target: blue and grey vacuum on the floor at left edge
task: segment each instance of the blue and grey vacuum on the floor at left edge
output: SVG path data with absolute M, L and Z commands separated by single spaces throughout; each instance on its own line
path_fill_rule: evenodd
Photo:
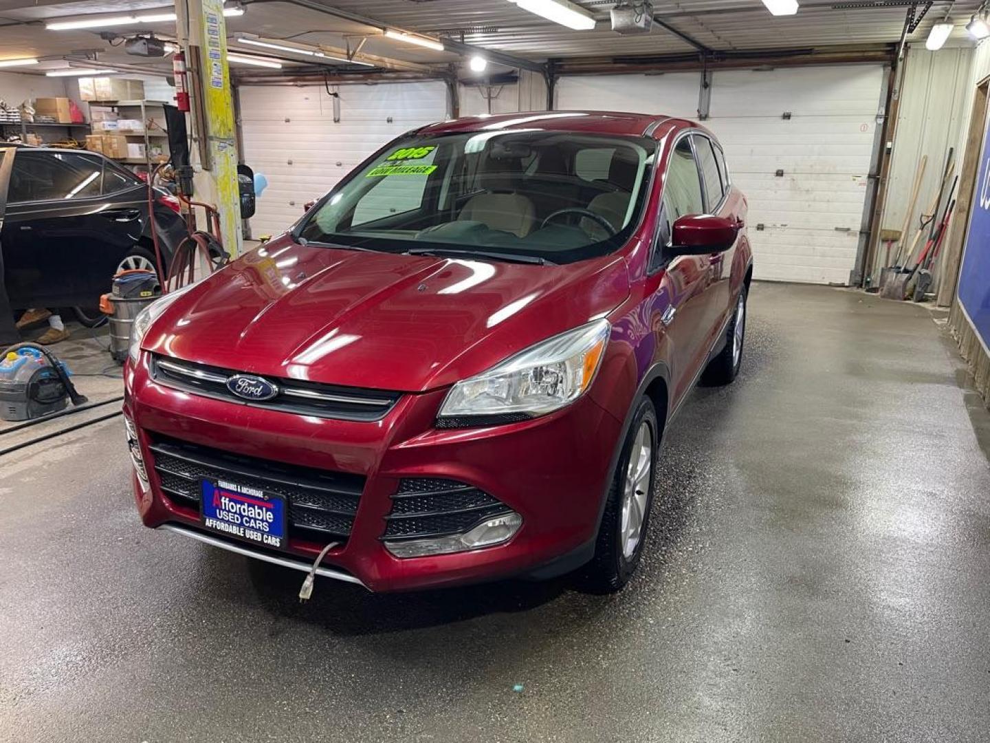
M 54 354 L 34 343 L 19 343 L 0 358 L 0 420 L 41 418 L 87 402 L 75 391 L 70 371 Z

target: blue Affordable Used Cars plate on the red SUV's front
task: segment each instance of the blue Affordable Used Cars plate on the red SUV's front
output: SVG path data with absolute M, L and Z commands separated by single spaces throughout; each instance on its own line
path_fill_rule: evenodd
M 262 547 L 288 547 L 284 498 L 222 479 L 200 480 L 200 493 L 207 529 Z

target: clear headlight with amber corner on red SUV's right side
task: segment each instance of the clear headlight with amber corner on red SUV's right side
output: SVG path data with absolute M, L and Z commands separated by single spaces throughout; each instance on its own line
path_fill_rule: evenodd
M 596 320 L 458 381 L 441 405 L 438 425 L 508 423 L 569 405 L 591 386 L 610 331 L 607 320 Z

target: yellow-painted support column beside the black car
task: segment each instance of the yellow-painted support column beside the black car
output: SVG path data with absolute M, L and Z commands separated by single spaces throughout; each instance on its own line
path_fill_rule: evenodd
M 241 199 L 224 3 L 176 0 L 175 13 L 179 43 L 188 49 L 196 198 L 220 209 L 220 237 L 236 258 L 242 250 Z

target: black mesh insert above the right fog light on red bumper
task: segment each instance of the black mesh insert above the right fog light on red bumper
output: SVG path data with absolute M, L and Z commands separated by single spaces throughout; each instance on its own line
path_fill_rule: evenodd
M 383 539 L 400 541 L 463 534 L 493 516 L 512 513 L 477 487 L 443 478 L 406 478 L 392 495 Z

